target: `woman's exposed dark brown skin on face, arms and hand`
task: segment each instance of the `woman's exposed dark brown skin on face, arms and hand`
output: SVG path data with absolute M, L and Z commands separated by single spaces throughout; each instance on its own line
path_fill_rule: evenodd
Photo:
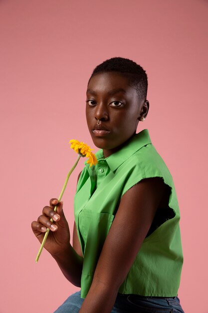
M 142 116 L 147 116 L 148 109 L 149 102 L 139 99 L 128 79 L 117 72 L 96 74 L 88 83 L 87 124 L 94 144 L 103 149 L 105 157 L 119 150 L 136 133 L 138 122 Z M 166 199 L 166 191 L 163 180 L 156 177 L 143 179 L 123 195 L 81 313 L 111 312 L 118 289 L 135 260 L 157 208 Z M 58 203 L 56 213 L 53 211 L 57 202 L 57 199 L 50 200 L 42 215 L 32 222 L 32 230 L 42 242 L 46 227 L 50 228 L 45 248 L 66 278 L 80 286 L 83 255 L 76 227 L 72 247 L 63 203 Z M 51 217 L 54 222 L 50 222 Z

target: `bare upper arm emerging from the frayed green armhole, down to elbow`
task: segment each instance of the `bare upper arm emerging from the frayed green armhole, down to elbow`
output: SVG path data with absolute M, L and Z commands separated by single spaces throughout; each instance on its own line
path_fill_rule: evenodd
M 147 178 L 130 188 L 103 245 L 93 281 L 119 288 L 151 226 L 165 190 L 162 178 Z

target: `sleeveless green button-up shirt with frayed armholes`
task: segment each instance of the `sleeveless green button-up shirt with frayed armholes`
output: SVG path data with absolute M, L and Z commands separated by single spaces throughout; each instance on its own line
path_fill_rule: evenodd
M 102 150 L 96 156 L 95 166 L 89 167 L 85 162 L 74 197 L 75 223 L 84 256 L 81 297 L 84 298 L 90 288 L 122 195 L 149 177 L 162 177 L 170 186 L 169 207 L 158 208 L 164 215 L 163 221 L 143 241 L 119 292 L 176 296 L 183 264 L 179 206 L 173 178 L 153 146 L 148 130 L 140 131 L 107 158 Z

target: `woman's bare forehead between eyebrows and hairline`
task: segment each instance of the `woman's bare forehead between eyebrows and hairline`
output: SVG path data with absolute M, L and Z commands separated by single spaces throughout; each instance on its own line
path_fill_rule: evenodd
M 92 76 L 88 82 L 87 93 L 130 91 L 128 78 L 118 72 L 102 72 Z

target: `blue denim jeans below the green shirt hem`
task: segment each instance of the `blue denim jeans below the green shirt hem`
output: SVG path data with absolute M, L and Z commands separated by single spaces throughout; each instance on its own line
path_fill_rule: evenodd
M 81 291 L 70 295 L 54 313 L 78 313 L 84 301 Z M 118 293 L 111 313 L 184 313 L 179 298 Z

